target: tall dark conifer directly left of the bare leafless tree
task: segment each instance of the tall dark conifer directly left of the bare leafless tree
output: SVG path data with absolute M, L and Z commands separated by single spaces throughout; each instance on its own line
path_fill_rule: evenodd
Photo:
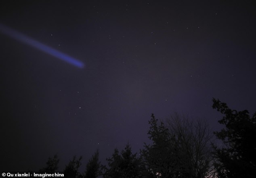
M 151 178 L 178 176 L 179 158 L 176 155 L 174 137 L 170 135 L 163 122 L 158 125 L 153 113 L 149 125 L 148 134 L 152 144 L 145 143 L 144 149 L 141 150 L 147 176 Z

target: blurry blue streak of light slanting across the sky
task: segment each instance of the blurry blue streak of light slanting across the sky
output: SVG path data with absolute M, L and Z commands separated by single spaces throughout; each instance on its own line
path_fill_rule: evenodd
M 36 40 L 33 40 L 32 38 L 29 38 L 29 37 L 19 33 L 18 31 L 15 31 L 14 29 L 11 29 L 1 23 L 0 23 L 0 32 L 2 32 L 2 34 L 10 36 L 11 38 L 19 40 L 25 44 L 33 46 L 43 52 L 46 52 L 47 54 L 57 57 L 58 59 L 66 61 L 67 63 L 69 63 L 71 65 L 74 65 L 79 68 L 84 67 L 84 63 L 82 61 L 79 61 L 78 59 L 74 59 L 73 57 L 70 57 L 67 54 L 59 52 L 58 50 L 55 50 L 49 46 L 46 46 L 46 45 L 36 41 Z

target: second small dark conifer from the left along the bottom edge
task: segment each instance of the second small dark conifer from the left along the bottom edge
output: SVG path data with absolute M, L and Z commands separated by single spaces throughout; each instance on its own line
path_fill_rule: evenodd
M 67 178 L 82 178 L 82 175 L 78 171 L 82 160 L 82 156 L 79 157 L 79 159 L 76 159 L 76 156 L 73 156 L 72 161 L 69 161 L 69 164 L 66 165 L 66 168 L 64 169 L 64 175 Z

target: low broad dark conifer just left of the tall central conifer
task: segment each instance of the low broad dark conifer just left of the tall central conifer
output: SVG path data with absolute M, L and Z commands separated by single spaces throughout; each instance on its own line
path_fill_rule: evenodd
M 104 178 L 141 178 L 141 159 L 132 154 L 129 144 L 119 154 L 118 149 L 114 150 L 111 158 L 107 159 L 108 167 L 103 166 Z

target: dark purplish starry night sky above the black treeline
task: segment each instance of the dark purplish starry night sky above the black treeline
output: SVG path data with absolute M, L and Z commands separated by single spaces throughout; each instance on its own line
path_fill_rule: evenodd
M 219 98 L 256 111 L 256 6 L 249 1 L 1 1 L 0 168 L 82 167 L 129 142 L 148 142 L 151 113 L 206 119 Z M 3 31 L 3 25 L 80 60 L 76 67 Z

